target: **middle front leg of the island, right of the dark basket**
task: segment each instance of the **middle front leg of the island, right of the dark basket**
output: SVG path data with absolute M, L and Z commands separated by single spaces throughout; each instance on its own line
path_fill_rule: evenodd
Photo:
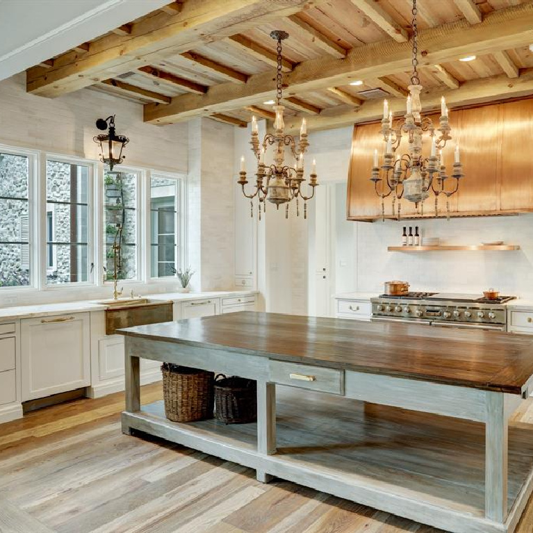
M 272 455 L 276 452 L 276 385 L 257 382 L 257 451 Z M 256 470 L 258 481 L 268 483 L 272 475 Z

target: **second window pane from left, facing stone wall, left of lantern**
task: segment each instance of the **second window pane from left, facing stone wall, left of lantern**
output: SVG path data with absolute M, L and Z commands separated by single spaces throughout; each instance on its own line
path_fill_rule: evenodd
M 90 167 L 47 161 L 47 284 L 89 281 Z

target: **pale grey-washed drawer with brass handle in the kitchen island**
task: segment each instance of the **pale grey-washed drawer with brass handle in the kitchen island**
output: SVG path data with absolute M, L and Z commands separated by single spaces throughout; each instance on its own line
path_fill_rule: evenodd
M 344 371 L 321 366 L 269 361 L 270 381 L 281 385 L 309 388 L 322 393 L 344 393 Z

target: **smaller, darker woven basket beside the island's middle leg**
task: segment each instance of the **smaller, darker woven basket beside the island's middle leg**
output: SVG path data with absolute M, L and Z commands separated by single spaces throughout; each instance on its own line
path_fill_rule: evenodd
M 223 374 L 215 377 L 215 416 L 224 424 L 257 420 L 257 383 L 253 379 Z

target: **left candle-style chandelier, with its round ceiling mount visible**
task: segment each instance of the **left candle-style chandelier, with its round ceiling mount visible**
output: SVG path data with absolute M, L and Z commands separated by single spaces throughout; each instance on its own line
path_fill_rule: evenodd
M 263 213 L 265 212 L 266 201 L 272 202 L 279 209 L 281 204 L 286 204 L 285 217 L 288 218 L 288 208 L 290 202 L 295 199 L 296 215 L 300 215 L 299 200 L 304 202 L 304 218 L 307 218 L 307 201 L 315 195 L 315 187 L 318 186 L 316 181 L 316 164 L 313 160 L 311 165 L 311 174 L 309 185 L 311 186 L 311 194 L 305 196 L 302 192 L 302 183 L 304 179 L 304 153 L 309 146 L 307 141 L 307 125 L 306 120 L 302 120 L 302 127 L 300 128 L 300 141 L 296 147 L 296 141 L 292 135 L 284 133 L 285 124 L 283 120 L 284 106 L 281 105 L 283 99 L 283 74 L 281 73 L 281 41 L 288 38 L 288 33 L 285 31 L 272 31 L 270 33 L 272 39 L 277 40 L 277 77 L 276 77 L 276 91 L 277 103 L 273 106 L 276 113 L 274 120 L 274 133 L 267 133 L 263 139 L 262 145 L 259 144 L 259 129 L 257 126 L 256 117 L 252 117 L 252 151 L 257 159 L 256 185 L 252 193 L 245 192 L 245 186 L 248 183 L 246 179 L 245 158 L 240 158 L 240 172 L 237 183 L 243 188 L 243 195 L 250 199 L 250 214 L 254 216 L 254 198 L 257 198 L 257 212 L 259 220 L 261 220 L 261 205 L 263 205 Z M 274 146 L 272 160 L 274 163 L 265 165 L 265 154 L 269 146 Z M 288 155 L 293 156 L 294 161 L 289 165 L 285 161 L 286 147 L 288 147 Z

